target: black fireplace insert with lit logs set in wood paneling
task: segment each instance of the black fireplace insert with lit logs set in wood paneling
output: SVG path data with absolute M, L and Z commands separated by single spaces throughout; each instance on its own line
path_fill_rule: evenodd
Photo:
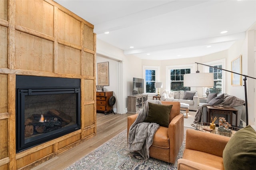
M 16 75 L 16 152 L 80 129 L 80 79 Z

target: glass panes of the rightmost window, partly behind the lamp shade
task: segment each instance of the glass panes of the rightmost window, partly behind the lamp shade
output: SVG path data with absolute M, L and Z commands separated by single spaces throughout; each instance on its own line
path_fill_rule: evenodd
M 213 67 L 222 69 L 222 65 L 213 65 Z M 213 88 L 210 88 L 210 93 L 222 92 L 222 70 L 217 68 L 209 68 L 209 73 L 213 73 L 214 76 L 214 86 Z

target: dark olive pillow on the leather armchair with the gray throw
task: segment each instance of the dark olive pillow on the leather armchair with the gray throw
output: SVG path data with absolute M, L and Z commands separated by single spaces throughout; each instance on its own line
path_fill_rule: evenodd
M 148 116 L 144 122 L 157 123 L 162 127 L 169 126 L 172 105 L 158 105 L 148 102 Z

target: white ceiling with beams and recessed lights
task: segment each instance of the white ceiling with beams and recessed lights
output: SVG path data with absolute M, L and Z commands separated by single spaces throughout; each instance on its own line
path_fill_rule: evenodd
M 243 40 L 256 22 L 256 0 L 55 1 L 93 24 L 97 39 L 141 59 L 223 51 Z M 226 34 L 220 34 L 225 30 Z

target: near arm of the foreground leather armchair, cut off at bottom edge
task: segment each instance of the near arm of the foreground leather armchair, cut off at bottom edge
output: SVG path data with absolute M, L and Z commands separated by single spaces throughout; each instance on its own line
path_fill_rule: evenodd
M 178 170 L 217 170 L 216 168 L 193 162 L 186 159 L 178 159 Z

